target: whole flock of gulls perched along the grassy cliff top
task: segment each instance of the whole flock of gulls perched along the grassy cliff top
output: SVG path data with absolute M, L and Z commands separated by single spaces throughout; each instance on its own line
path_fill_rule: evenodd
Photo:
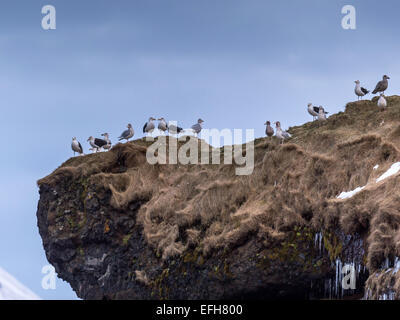
M 385 91 L 389 86 L 389 80 L 390 78 L 387 75 L 384 75 L 382 80 L 379 81 L 375 87 L 375 90 L 372 91 L 372 94 L 380 94 L 380 97 L 378 99 L 378 107 L 380 110 L 386 110 L 387 107 L 387 101 L 385 99 Z M 354 89 L 354 92 L 356 94 L 356 96 L 358 97 L 358 100 L 362 100 L 362 98 L 367 95 L 369 93 L 369 91 L 367 89 L 365 89 L 364 87 L 361 87 L 361 83 L 359 80 L 354 81 L 356 84 L 356 87 Z M 312 103 L 309 103 L 307 105 L 307 111 L 308 113 L 313 117 L 313 121 L 318 120 L 318 121 L 326 121 L 326 115 L 329 114 L 329 112 L 325 111 L 323 106 L 313 106 Z M 178 135 L 184 131 L 186 131 L 186 129 L 182 129 L 181 127 L 178 127 L 176 124 L 173 123 L 167 123 L 167 121 L 164 118 L 159 118 L 159 119 L 155 119 L 153 117 L 150 117 L 149 120 L 144 124 L 143 126 L 143 133 L 144 134 L 151 134 L 154 129 L 156 128 L 154 121 L 158 121 L 158 130 L 160 130 L 163 134 L 165 134 L 166 132 L 168 132 L 169 134 L 175 134 Z M 201 130 L 203 129 L 202 124 L 204 123 L 204 121 L 202 119 L 199 119 L 197 121 L 196 124 L 194 124 L 191 127 L 191 131 L 195 134 L 198 135 Z M 264 123 L 264 125 L 266 125 L 266 130 L 265 130 L 265 134 L 268 137 L 272 137 L 274 134 L 275 136 L 281 141 L 281 143 L 283 143 L 283 141 L 287 138 L 290 138 L 291 135 L 290 133 L 282 130 L 281 128 L 281 123 L 279 121 L 275 122 L 275 128 L 276 128 L 276 133 L 274 131 L 274 129 L 271 126 L 271 122 L 267 121 Z M 131 124 L 127 125 L 127 130 L 125 130 L 124 132 L 122 132 L 122 134 L 118 137 L 119 141 L 122 140 L 126 140 L 129 141 L 129 139 L 131 139 L 134 136 L 135 132 L 133 130 L 133 127 Z M 103 138 L 94 138 L 93 136 L 90 136 L 89 139 L 87 140 L 91 146 L 91 148 L 89 149 L 92 152 L 98 152 L 98 151 L 107 151 L 111 149 L 112 143 L 109 137 L 108 133 L 103 133 L 101 135 Z M 79 153 L 80 155 L 83 155 L 83 148 L 82 145 L 80 144 L 80 142 L 74 137 L 72 138 L 72 151 L 74 152 L 74 156 L 75 153 Z

